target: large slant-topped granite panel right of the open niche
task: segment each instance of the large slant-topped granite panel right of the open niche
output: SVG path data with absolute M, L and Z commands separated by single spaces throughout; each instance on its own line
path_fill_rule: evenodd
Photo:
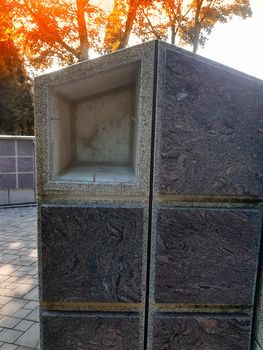
M 166 49 L 155 192 L 263 195 L 263 84 Z

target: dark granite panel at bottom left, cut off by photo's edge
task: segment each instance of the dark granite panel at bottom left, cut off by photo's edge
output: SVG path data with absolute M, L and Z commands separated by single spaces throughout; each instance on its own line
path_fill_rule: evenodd
M 43 350 L 139 349 L 138 314 L 52 314 L 43 321 Z

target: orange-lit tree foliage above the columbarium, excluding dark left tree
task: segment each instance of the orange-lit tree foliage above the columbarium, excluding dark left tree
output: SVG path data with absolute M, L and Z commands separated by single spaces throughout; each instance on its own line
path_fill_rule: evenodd
M 249 0 L 4 0 L 14 42 L 35 68 L 71 64 L 153 38 L 204 46 L 216 23 L 252 15 Z M 1 15 L 1 14 L 0 14 Z

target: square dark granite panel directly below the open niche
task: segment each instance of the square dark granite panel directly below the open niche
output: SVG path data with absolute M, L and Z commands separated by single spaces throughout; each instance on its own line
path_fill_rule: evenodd
M 42 207 L 45 301 L 140 302 L 143 208 Z

